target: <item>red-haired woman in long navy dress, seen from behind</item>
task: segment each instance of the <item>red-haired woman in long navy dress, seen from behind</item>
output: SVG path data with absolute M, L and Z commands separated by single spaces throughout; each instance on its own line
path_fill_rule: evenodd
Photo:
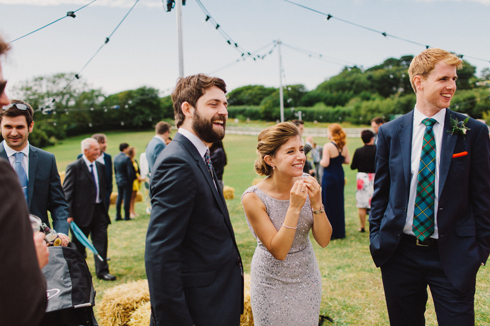
M 323 147 L 320 165 L 324 167 L 322 178 L 322 201 L 332 225 L 332 240 L 346 237 L 346 217 L 344 212 L 344 168 L 350 163 L 346 146 L 346 133 L 338 123 L 332 123 L 327 131 L 330 143 Z

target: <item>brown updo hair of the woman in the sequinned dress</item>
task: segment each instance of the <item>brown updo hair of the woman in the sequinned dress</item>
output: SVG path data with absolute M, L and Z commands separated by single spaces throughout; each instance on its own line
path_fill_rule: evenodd
M 293 137 L 301 137 L 296 124 L 291 122 L 281 122 L 274 126 L 262 130 L 257 138 L 257 160 L 255 161 L 255 172 L 259 175 L 269 176 L 272 174 L 272 167 L 265 161 L 264 157 L 269 155 L 274 157 L 277 150 Z

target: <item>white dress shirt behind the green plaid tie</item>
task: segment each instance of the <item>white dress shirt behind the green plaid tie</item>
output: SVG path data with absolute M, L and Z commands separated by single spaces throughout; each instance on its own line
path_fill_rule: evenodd
M 407 207 L 407 220 L 405 222 L 404 233 L 415 235 L 413 233 L 413 211 L 415 209 L 415 197 L 417 193 L 417 178 L 419 175 L 420 155 L 422 154 L 422 141 L 424 139 L 425 124 L 422 123 L 424 119 L 427 119 L 417 107 L 413 111 L 413 130 L 412 130 L 412 151 L 410 156 L 410 193 L 408 196 Z M 446 118 L 446 109 L 443 108 L 437 112 L 432 119 L 437 122 L 434 124 L 432 130 L 435 138 L 435 180 L 434 180 L 434 233 L 431 238 L 437 239 L 439 234 L 437 232 L 437 204 L 439 201 L 439 164 L 440 164 L 440 146 L 443 140 L 444 131 L 444 119 Z

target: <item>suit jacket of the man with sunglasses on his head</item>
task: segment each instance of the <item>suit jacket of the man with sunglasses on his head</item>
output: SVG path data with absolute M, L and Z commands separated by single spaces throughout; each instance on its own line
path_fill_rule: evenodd
M 4 146 L 0 146 L 0 157 L 8 160 Z M 55 155 L 29 145 L 28 207 L 31 214 L 39 216 L 50 226 L 47 211 L 51 212 L 53 229 L 68 235 L 68 204 L 66 203 Z

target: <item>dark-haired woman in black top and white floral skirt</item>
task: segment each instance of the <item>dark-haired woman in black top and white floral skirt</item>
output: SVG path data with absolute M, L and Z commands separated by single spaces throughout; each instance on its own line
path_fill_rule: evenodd
M 371 130 L 362 131 L 361 139 L 364 146 L 354 152 L 351 169 L 357 169 L 356 206 L 359 210 L 359 221 L 361 223 L 361 227 L 357 231 L 365 232 L 366 215 L 369 214 L 371 209 L 371 198 L 374 192 L 376 146 L 374 145 L 374 134 Z

